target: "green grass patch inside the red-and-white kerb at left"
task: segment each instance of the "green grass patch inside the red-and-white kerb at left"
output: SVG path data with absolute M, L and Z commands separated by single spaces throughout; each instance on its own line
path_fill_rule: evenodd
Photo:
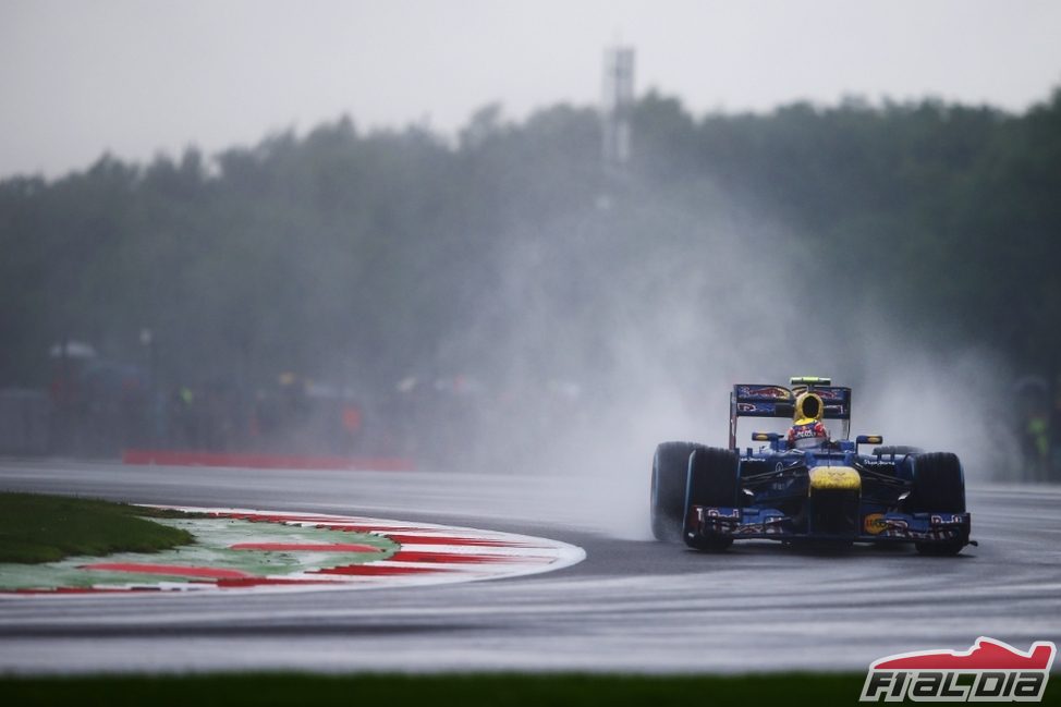
M 94 499 L 0 492 L 0 562 L 157 552 L 193 541 L 186 531 L 139 517 L 153 512 Z

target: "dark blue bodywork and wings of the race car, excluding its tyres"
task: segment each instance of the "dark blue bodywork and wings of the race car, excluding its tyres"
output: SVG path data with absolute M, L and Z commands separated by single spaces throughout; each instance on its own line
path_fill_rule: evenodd
M 946 554 L 971 544 L 971 516 L 965 512 L 964 478 L 956 458 L 880 447 L 883 440 L 879 436 L 847 439 L 851 389 L 829 382 L 794 378 L 792 389 L 773 385 L 733 387 L 728 458 L 736 459 L 737 492 L 729 505 L 698 503 L 691 463 L 682 527 L 686 544 L 704 549 L 712 543 L 718 546 L 749 538 L 905 543 L 928 553 L 942 549 L 935 553 Z M 754 432 L 753 441 L 766 443 L 737 448 L 741 417 L 791 418 L 795 397 L 806 391 L 820 397 L 826 419 L 840 422 L 841 439 L 816 449 L 790 449 L 780 434 Z M 859 449 L 864 444 L 877 447 L 873 453 L 863 454 Z M 927 467 L 938 462 L 934 458 L 941 456 L 949 458 L 944 461 L 954 466 L 950 476 L 952 486 L 961 486 L 960 503 L 941 503 L 934 500 L 941 498 L 938 493 L 918 487 L 919 460 L 927 479 L 931 471 Z M 934 503 L 949 508 L 932 508 Z

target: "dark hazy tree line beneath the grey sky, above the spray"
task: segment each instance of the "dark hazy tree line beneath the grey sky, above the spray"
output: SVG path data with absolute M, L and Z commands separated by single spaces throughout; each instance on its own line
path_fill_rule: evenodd
M 631 120 L 631 161 L 611 170 L 597 112 L 557 106 L 521 123 L 487 107 L 449 142 L 341 119 L 209 158 L 7 179 L 0 387 L 54 387 L 71 341 L 148 370 L 170 402 L 283 374 L 379 397 L 469 358 L 484 379 L 513 356 L 563 379 L 601 348 L 557 342 L 619 316 L 609 292 L 644 287 L 635 271 L 670 237 L 651 214 L 728 204 L 830 264 L 832 315 L 886 302 L 941 350 L 988 343 L 1015 370 L 1061 373 L 1061 90 L 1019 115 L 847 100 L 696 117 L 651 93 Z M 716 257 L 673 239 L 692 263 Z M 513 294 L 514 254 L 536 275 Z M 535 287 L 577 314 L 550 341 L 516 336 Z

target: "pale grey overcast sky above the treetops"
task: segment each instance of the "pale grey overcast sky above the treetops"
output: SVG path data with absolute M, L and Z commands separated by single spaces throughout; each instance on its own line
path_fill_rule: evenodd
M 453 133 L 596 103 L 605 47 L 696 113 L 845 94 L 1012 111 L 1061 86 L 1058 0 L 0 0 L 0 175 L 212 153 L 349 114 Z

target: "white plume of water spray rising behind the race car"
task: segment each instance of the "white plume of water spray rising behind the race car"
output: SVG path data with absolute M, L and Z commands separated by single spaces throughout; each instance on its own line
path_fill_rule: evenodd
M 572 216 L 514 223 L 468 353 L 510 390 L 478 411 L 471 463 L 539 478 L 542 513 L 645 537 L 657 443 L 724 447 L 734 383 L 815 375 L 854 388 L 852 437 L 954 451 L 973 482 L 1004 472 L 991 352 L 918 341 L 887 300 L 837 284 L 857 259 L 802 235 L 710 180 L 613 182 Z M 742 420 L 739 447 L 756 425 L 785 422 Z

